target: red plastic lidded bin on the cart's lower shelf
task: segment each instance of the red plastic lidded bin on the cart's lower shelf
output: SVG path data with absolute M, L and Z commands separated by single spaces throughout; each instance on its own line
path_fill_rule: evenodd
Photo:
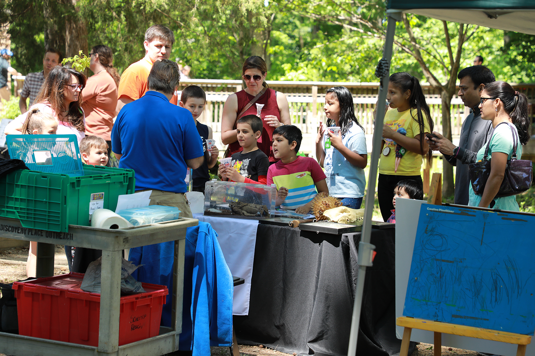
M 98 346 L 100 294 L 80 289 L 83 273 L 14 282 L 19 334 Z M 142 283 L 146 293 L 121 297 L 119 345 L 159 334 L 167 287 Z

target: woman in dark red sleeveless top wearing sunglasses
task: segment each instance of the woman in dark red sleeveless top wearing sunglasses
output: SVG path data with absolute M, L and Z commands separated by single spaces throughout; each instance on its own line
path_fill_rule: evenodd
M 265 61 L 262 57 L 251 56 L 243 62 L 242 77 L 247 88 L 237 93 L 231 94 L 223 107 L 223 120 L 221 121 L 221 141 L 224 145 L 229 145 L 230 155 L 242 150 L 236 138 L 236 121 L 249 101 L 266 88 L 264 94 L 258 98 L 255 104 L 251 105 L 241 116 L 257 113 L 256 104 L 264 104 L 261 118 L 264 123 L 262 136 L 258 139 L 258 148 L 268 156 L 270 162 L 275 162 L 271 148 L 273 140 L 273 130 L 281 125 L 290 125 L 290 110 L 288 100 L 281 92 L 276 92 L 268 88 L 265 77 L 268 74 Z

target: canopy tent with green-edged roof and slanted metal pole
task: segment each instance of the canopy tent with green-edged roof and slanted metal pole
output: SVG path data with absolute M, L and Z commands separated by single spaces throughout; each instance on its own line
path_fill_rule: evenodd
M 386 66 L 378 66 L 381 77 L 378 102 L 386 101 L 386 89 L 388 88 L 389 65 L 392 59 L 392 45 L 397 21 L 401 21 L 402 13 L 414 13 L 439 20 L 460 23 L 470 23 L 485 27 L 497 28 L 506 31 L 516 31 L 535 35 L 535 1 L 534 0 L 388 0 L 386 13 L 388 24 L 386 29 L 385 47 L 383 59 Z M 381 70 L 381 68 L 383 70 Z M 376 127 L 383 127 L 385 106 L 378 105 Z M 379 156 L 381 152 L 382 130 L 373 131 L 372 154 L 370 162 L 370 175 L 368 177 L 368 189 L 366 197 L 375 196 L 376 180 L 378 173 Z M 357 347 L 358 325 L 361 315 L 362 294 L 364 291 L 364 278 L 366 266 L 371 266 L 371 253 L 375 246 L 371 245 L 371 219 L 374 199 L 365 200 L 364 223 L 362 226 L 362 238 L 358 249 L 358 277 L 355 289 L 355 304 L 351 321 L 349 336 L 348 356 L 354 356 Z M 361 256 L 361 251 L 363 252 Z

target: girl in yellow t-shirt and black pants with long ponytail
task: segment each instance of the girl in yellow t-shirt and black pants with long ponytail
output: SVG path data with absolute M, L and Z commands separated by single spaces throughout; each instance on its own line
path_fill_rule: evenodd
M 425 142 L 433 132 L 433 121 L 418 79 L 409 73 L 390 76 L 386 100 L 390 103 L 383 125 L 383 148 L 379 161 L 377 197 L 386 221 L 394 209 L 392 195 L 400 180 L 422 183 L 422 156 L 431 162 L 432 151 Z

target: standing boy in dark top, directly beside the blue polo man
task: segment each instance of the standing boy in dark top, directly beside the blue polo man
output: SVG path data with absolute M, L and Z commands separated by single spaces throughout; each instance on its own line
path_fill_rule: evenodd
M 193 191 L 204 193 L 204 186 L 207 181 L 210 180 L 210 175 L 208 174 L 208 169 L 216 165 L 217 156 L 219 155 L 219 150 L 216 145 L 213 145 L 212 148 L 207 147 L 206 140 L 212 139 L 212 129 L 204 124 L 201 124 L 197 121 L 197 117 L 200 117 L 204 105 L 206 103 L 206 94 L 200 86 L 197 85 L 188 85 L 184 90 L 182 90 L 180 96 L 180 102 L 178 105 L 188 109 L 192 113 L 193 120 L 195 120 L 195 126 L 199 135 L 202 138 L 203 148 L 204 148 L 204 163 L 201 167 L 193 170 Z

